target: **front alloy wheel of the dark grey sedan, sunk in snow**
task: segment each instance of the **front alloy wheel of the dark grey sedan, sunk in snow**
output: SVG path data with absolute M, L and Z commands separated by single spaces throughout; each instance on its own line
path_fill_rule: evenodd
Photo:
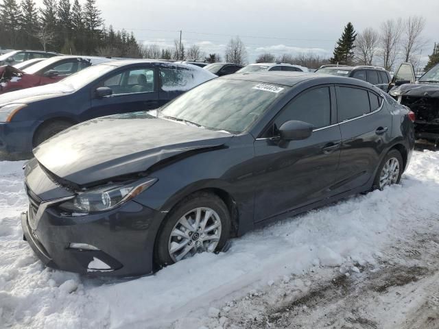
M 199 252 L 214 252 L 222 224 L 215 210 L 195 208 L 178 219 L 169 236 L 168 251 L 174 262 Z

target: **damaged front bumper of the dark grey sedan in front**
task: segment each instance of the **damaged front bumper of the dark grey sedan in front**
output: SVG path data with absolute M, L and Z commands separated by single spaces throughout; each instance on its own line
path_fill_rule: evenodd
M 106 276 L 140 276 L 155 270 L 154 242 L 162 219 L 156 210 L 131 201 L 99 215 L 62 217 L 47 208 L 36 230 L 29 226 L 32 213 L 29 208 L 21 214 L 24 238 L 48 267 Z M 97 249 L 73 249 L 70 243 Z M 95 267 L 96 261 L 105 266 Z

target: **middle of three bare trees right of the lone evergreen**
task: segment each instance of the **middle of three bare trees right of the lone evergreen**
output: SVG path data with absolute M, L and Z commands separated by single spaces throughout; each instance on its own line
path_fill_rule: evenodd
M 401 17 L 381 23 L 380 44 L 383 56 L 383 66 L 391 71 L 399 51 L 403 23 Z

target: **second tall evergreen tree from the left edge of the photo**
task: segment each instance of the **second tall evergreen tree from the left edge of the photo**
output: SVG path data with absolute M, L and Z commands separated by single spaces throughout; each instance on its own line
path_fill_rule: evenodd
M 38 30 L 38 10 L 34 0 L 22 0 L 20 21 L 21 45 L 23 48 L 38 48 L 38 40 L 33 35 Z

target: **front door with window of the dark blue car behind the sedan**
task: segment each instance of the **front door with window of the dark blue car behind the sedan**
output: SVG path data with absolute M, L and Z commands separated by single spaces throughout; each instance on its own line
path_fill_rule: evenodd
M 157 70 L 152 66 L 121 69 L 99 81 L 91 93 L 91 109 L 86 119 L 110 114 L 153 110 L 158 107 Z M 95 89 L 108 87 L 112 95 L 97 97 Z

